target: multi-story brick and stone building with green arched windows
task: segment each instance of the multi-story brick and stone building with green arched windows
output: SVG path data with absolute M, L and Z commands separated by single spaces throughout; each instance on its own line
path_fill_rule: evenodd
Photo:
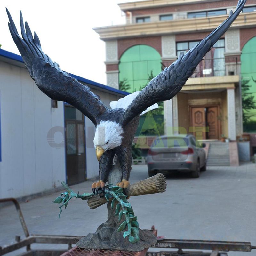
M 139 90 L 151 71 L 156 76 L 180 52 L 191 49 L 224 21 L 236 4 L 237 0 L 119 4 L 126 24 L 94 28 L 106 42 L 107 84 L 118 88 L 125 81 L 130 92 Z M 247 0 L 242 13 L 182 90 L 164 102 L 165 131 L 174 127 L 174 132 L 195 132 L 195 127 L 207 126 L 209 132 L 203 132 L 203 139 L 225 136 L 230 140 L 256 132 L 255 45 L 256 0 Z M 251 153 L 256 149 L 253 138 Z

